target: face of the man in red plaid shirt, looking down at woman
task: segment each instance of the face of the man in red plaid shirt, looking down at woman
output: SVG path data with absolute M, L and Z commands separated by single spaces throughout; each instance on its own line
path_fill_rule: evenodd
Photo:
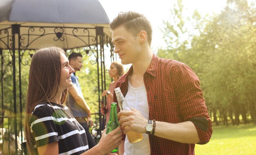
M 119 55 L 122 64 L 133 64 L 140 59 L 141 46 L 138 36 L 132 35 L 124 26 L 112 30 L 114 52 Z

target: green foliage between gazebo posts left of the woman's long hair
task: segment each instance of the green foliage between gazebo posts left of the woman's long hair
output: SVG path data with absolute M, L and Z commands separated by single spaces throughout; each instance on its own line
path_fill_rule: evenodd
M 21 55 L 24 51 L 21 51 Z M 3 113 L 4 118 L 4 127 L 5 128 L 14 128 L 14 96 L 13 96 L 13 62 L 12 62 L 12 53 L 9 50 L 3 50 L 2 53 L 2 73 L 3 76 L 1 76 L 2 79 L 2 94 L 1 96 L 1 102 L 0 106 L 0 113 Z M 19 75 L 19 65 L 18 65 L 18 51 L 16 51 L 16 76 L 15 76 L 15 82 L 16 82 L 16 115 L 17 117 L 17 126 L 20 126 L 19 122 L 22 121 L 22 117 L 25 116 L 25 109 L 26 109 L 26 97 L 27 97 L 27 85 L 28 85 L 28 75 L 29 75 L 29 61 L 30 55 L 22 55 L 22 61 L 20 64 L 20 71 L 21 74 Z M 19 83 L 19 76 L 20 76 L 20 83 Z M 21 97 L 20 97 L 21 96 Z M 3 109 L 2 109 L 3 106 Z M 22 113 L 20 113 L 20 109 L 22 109 Z M 21 116 L 21 117 L 20 117 Z M 9 118 L 7 118 L 9 117 Z M 20 122 L 22 123 L 22 122 Z M 20 128 L 18 127 L 18 131 Z

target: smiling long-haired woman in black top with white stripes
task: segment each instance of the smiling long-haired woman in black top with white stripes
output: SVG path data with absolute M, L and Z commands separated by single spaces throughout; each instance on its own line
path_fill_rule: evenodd
M 26 141 L 30 155 L 104 155 L 121 144 L 121 128 L 88 150 L 83 127 L 63 105 L 74 69 L 57 47 L 38 50 L 32 57 L 27 92 Z

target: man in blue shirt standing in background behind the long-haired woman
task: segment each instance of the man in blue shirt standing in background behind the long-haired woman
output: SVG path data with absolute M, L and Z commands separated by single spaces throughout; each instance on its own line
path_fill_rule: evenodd
M 83 98 L 83 93 L 78 82 L 78 77 L 76 77 L 76 71 L 80 71 L 83 66 L 82 55 L 80 53 L 71 53 L 68 57 L 68 60 L 70 62 L 70 66 L 74 69 L 74 73 L 71 74 L 73 86 L 68 89 L 70 94 L 67 100 L 67 105 L 71 107 L 70 110 L 72 111 L 74 117 L 85 129 L 90 149 L 96 145 L 92 139 L 92 135 L 89 132 L 88 126 L 88 124 L 92 126 L 93 121 L 91 120 L 90 108 Z

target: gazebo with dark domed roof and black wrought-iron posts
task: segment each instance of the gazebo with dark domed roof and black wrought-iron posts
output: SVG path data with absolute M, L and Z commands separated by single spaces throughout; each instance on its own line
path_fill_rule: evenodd
M 113 60 L 108 16 L 98 0 L 1 0 L 0 2 L 0 58 L 1 58 L 1 98 L 0 128 L 4 120 L 12 120 L 16 137 L 23 130 L 22 118 L 22 67 L 29 65 L 34 50 L 42 45 L 54 45 L 65 51 L 84 52 L 95 56 L 97 65 L 98 94 L 106 89 L 105 55 L 110 53 Z M 107 52 L 105 52 L 107 51 Z M 30 55 L 25 58 L 25 55 Z M 12 72 L 13 99 L 10 103 L 13 115 L 4 115 L 4 74 L 6 68 Z M 98 95 L 99 107 L 102 100 Z M 103 121 L 101 113 L 99 124 Z M 8 122 L 9 126 L 9 122 Z M 9 128 L 9 127 L 8 127 Z M 99 128 L 101 130 L 101 127 Z M 99 132 L 101 133 L 101 132 Z M 2 134 L 2 133 L 1 133 Z M 21 134 L 21 138 L 23 135 Z M 3 141 L 3 140 L 2 140 Z M 23 151 L 22 151 L 23 152 Z M 18 154 L 16 149 L 15 154 Z

